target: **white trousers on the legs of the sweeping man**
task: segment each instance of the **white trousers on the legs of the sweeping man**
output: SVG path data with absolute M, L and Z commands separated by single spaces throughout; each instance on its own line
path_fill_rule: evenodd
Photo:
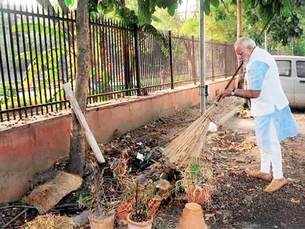
M 283 168 L 282 168 L 282 152 L 281 144 L 278 139 L 274 121 L 271 121 L 270 131 L 268 135 L 270 136 L 260 136 L 263 138 L 269 138 L 268 150 L 264 149 L 258 141 L 258 146 L 261 152 L 261 172 L 270 173 L 272 171 L 274 179 L 283 178 Z

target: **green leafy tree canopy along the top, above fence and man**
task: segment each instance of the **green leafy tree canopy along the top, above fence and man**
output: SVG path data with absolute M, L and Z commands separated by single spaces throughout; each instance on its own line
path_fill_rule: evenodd
M 38 0 L 42 2 L 50 0 Z M 144 30 L 152 30 L 158 9 L 163 9 L 173 16 L 182 0 L 89 0 L 91 16 L 108 15 L 123 21 L 126 25 L 137 24 Z M 199 0 L 197 5 L 199 6 Z M 60 6 L 75 6 L 77 0 L 58 0 Z M 207 35 L 214 40 L 232 41 L 235 32 L 236 0 L 205 0 L 207 14 Z M 304 17 L 305 0 L 244 0 L 244 30 L 258 43 L 262 43 L 262 31 L 267 29 L 273 41 L 287 45 L 292 40 L 302 36 L 302 17 Z M 233 7 L 233 8 L 232 8 Z M 302 9 L 302 10 L 301 10 Z M 196 35 L 195 27 L 199 25 L 196 17 L 184 22 L 181 31 L 185 34 Z M 197 20 L 197 22 L 196 22 Z M 228 29 L 230 28 L 230 29 Z M 223 30 L 225 29 L 225 30 Z M 197 29 L 198 30 L 198 29 Z M 221 30 L 227 31 L 221 34 Z

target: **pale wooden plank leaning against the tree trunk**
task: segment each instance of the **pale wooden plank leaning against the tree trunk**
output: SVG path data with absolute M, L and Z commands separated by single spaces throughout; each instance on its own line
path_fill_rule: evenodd
M 78 105 L 78 102 L 72 91 L 71 84 L 70 83 L 63 84 L 63 89 L 65 90 L 67 99 L 70 101 L 71 109 L 74 111 L 74 113 L 77 117 L 77 120 L 79 121 L 79 123 L 81 124 L 82 128 L 85 131 L 86 139 L 93 151 L 95 158 L 97 159 L 97 161 L 99 163 L 105 163 L 103 153 L 100 150 L 100 148 L 95 140 L 95 137 L 94 137 L 93 133 L 91 132 L 90 127 L 85 119 L 85 116 Z

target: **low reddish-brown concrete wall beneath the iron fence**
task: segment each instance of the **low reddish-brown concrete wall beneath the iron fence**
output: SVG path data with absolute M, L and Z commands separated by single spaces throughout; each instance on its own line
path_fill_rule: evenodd
M 225 81 L 211 82 L 210 98 Z M 98 142 L 111 139 L 162 115 L 199 103 L 198 86 L 177 88 L 131 101 L 89 108 L 86 114 Z M 68 156 L 70 114 L 32 122 L 0 132 L 0 203 L 20 198 L 30 187 L 33 175 Z

